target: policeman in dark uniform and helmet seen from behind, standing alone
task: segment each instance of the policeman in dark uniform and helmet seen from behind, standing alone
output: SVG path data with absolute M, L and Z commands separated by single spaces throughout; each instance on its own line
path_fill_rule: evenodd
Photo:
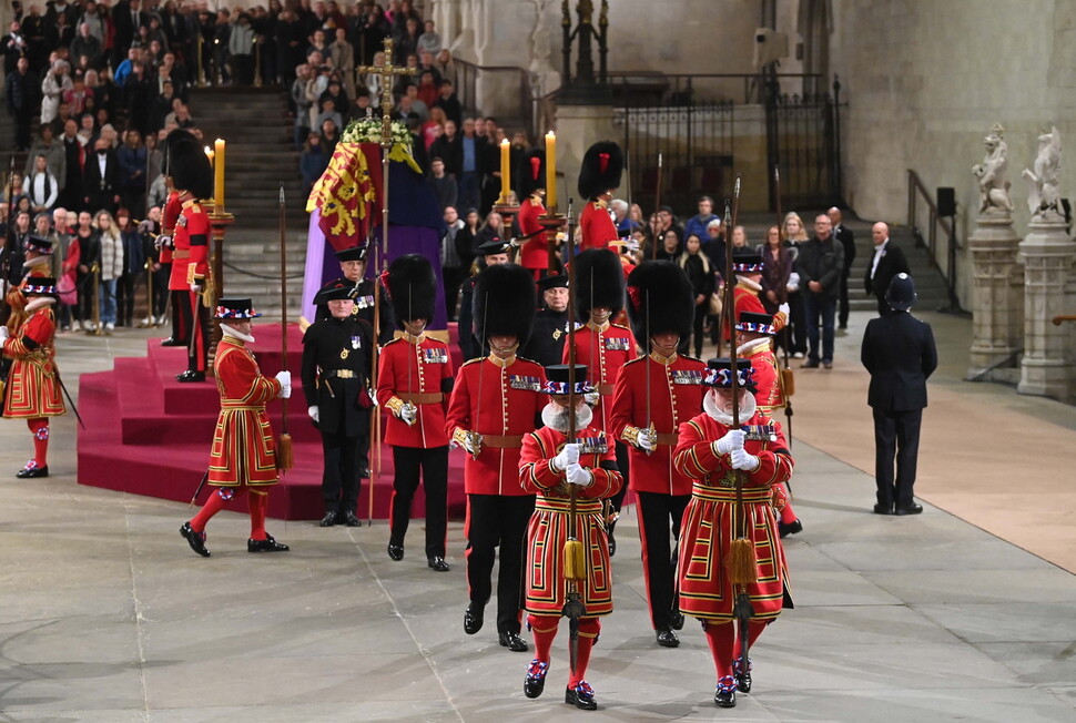
M 926 379 L 937 367 L 937 349 L 931 325 L 907 313 L 915 303 L 911 276 L 894 276 L 885 298 L 892 312 L 867 323 L 860 349 L 860 359 L 871 373 L 867 404 L 874 411 L 874 512 L 918 515 L 923 506 L 912 498 L 912 487 L 926 407 Z

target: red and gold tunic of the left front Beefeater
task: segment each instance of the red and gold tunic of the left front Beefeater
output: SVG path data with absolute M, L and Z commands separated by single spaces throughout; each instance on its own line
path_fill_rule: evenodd
M 579 464 L 590 469 L 593 482 L 578 489 L 576 519 L 570 518 L 569 491 L 564 473 L 549 468 L 568 437 L 549 427 L 524 436 L 520 454 L 519 483 L 538 495 L 535 513 L 527 526 L 527 612 L 560 615 L 568 584 L 564 577 L 564 549 L 568 537 L 582 540 L 587 549 L 587 582 L 579 585 L 587 617 L 612 612 L 612 568 L 609 563 L 609 539 L 602 519 L 601 500 L 612 497 L 623 485 L 620 472 L 602 469 L 602 461 L 616 455 L 600 429 L 587 427 L 576 437 L 583 445 Z M 569 534 L 569 532 L 571 534 Z

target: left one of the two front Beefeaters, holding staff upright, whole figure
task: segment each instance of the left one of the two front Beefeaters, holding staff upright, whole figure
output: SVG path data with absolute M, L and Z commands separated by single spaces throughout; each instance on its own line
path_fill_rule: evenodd
M 591 421 L 593 413 L 583 396 L 588 391 L 587 367 L 576 365 L 575 432 L 568 442 L 569 367 L 546 367 L 546 391 L 550 403 L 541 410 L 545 425 L 524 436 L 519 482 L 538 495 L 527 528 L 526 599 L 527 624 L 535 638 L 535 659 L 524 680 L 524 694 L 538 697 L 546 686 L 550 649 L 564 614 L 568 593 L 579 592 L 583 614 L 579 619 L 576 664 L 568 673 L 565 702 L 585 711 L 598 707 L 586 681 L 590 650 L 601 625 L 598 619 L 612 612 L 612 568 L 606 539 L 602 502 L 623 485 L 613 451 L 605 432 Z M 576 488 L 576 515 L 570 515 L 570 490 Z M 586 580 L 565 579 L 564 550 L 568 538 L 580 540 L 585 550 Z

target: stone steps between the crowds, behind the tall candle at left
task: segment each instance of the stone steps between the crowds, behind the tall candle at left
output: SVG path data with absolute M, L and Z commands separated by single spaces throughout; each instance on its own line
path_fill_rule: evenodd
M 250 296 L 266 317 L 280 318 L 283 183 L 288 316 L 297 318 L 308 217 L 286 95 L 275 89 L 193 89 L 191 112 L 206 145 L 227 141 L 225 205 L 235 223 L 224 240 L 225 294 Z

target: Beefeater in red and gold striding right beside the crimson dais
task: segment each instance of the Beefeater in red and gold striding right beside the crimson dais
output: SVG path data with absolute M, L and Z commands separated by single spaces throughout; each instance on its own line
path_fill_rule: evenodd
M 216 489 L 209 500 L 180 528 L 191 549 L 210 557 L 205 549 L 205 525 L 237 497 L 247 496 L 251 508 L 248 552 L 284 552 L 288 547 L 265 532 L 268 488 L 276 485 L 276 440 L 265 405 L 292 395 L 292 375 L 278 371 L 264 377 L 254 355 L 246 348 L 254 342 L 251 319 L 261 316 L 248 298 L 222 298 L 216 307 L 221 319 L 221 343 L 216 346 L 213 369 L 221 393 L 221 414 L 216 418 L 206 481 Z

